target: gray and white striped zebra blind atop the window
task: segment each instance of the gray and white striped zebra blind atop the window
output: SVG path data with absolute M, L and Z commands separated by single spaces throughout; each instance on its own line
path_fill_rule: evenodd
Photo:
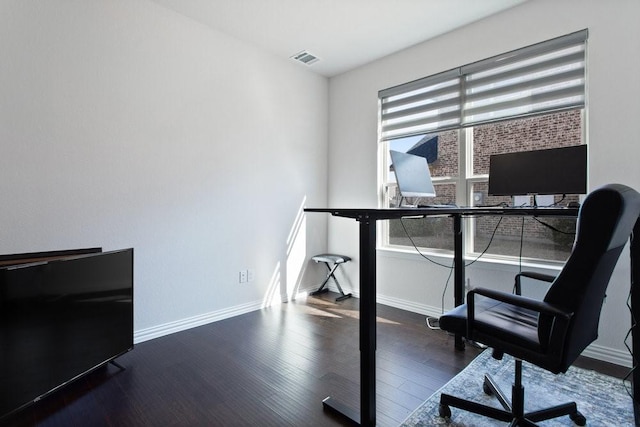
M 379 92 L 383 140 L 585 104 L 587 30 Z

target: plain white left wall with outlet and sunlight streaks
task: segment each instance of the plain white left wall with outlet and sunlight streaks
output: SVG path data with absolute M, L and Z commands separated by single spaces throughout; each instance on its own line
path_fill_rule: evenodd
M 326 78 L 147 0 L 2 0 L 0 57 L 0 253 L 135 248 L 138 341 L 305 284 Z

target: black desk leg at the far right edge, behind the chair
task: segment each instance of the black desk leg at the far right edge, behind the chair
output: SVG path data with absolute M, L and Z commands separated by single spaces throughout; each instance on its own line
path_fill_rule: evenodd
M 640 367 L 637 352 L 640 351 L 640 219 L 636 221 L 629 245 L 631 254 L 631 345 L 633 371 L 633 412 L 636 425 L 640 422 Z

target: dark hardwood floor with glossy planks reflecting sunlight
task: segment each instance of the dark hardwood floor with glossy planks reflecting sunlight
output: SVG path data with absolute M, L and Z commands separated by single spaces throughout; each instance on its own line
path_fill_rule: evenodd
M 5 420 L 10 426 L 339 426 L 359 407 L 358 300 L 299 299 L 136 345 Z M 378 305 L 378 425 L 398 425 L 480 350 L 423 315 Z M 583 360 L 623 376 L 626 368 Z

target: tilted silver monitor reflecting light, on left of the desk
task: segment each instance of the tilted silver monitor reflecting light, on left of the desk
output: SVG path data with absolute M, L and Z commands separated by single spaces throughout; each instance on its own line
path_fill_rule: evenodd
M 435 197 L 427 159 L 401 151 L 389 153 L 402 197 Z

